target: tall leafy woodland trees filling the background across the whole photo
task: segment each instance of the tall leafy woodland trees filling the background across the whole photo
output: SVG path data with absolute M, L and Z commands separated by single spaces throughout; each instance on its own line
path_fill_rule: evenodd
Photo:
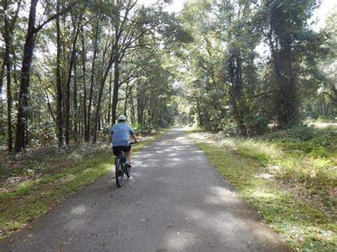
M 314 0 L 171 2 L 2 1 L 7 149 L 96 142 L 119 114 L 242 136 L 336 118 L 336 9 L 315 32 Z

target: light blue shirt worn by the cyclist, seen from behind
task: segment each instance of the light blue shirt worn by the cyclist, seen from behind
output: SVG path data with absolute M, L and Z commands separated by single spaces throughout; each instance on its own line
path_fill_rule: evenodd
M 112 146 L 129 146 L 129 136 L 134 135 L 134 130 L 129 124 L 118 123 L 112 126 Z

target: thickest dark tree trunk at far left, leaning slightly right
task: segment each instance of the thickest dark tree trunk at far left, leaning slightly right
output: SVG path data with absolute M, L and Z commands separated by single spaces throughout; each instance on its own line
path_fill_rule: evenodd
M 26 34 L 26 42 L 23 49 L 23 60 L 21 70 L 21 85 L 18 99 L 18 116 L 16 124 L 16 139 L 15 150 L 21 151 L 26 147 L 25 143 L 25 129 L 27 126 L 27 111 L 28 111 L 28 87 L 29 75 L 31 72 L 31 60 L 34 50 L 34 27 L 36 21 L 36 5 L 38 0 L 31 0 L 31 7 L 28 18 L 28 29 Z

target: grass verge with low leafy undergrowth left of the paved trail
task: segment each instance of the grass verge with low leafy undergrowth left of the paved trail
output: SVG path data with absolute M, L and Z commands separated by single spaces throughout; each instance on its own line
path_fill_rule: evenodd
M 141 150 L 164 132 L 146 137 L 132 150 Z M 33 159 L 25 168 L 24 164 L 29 158 Z M 105 175 L 114 163 L 109 146 L 93 145 L 63 150 L 48 148 L 39 155 L 26 153 L 17 159 L 11 160 L 11 163 L 15 162 L 12 167 L 9 165 L 14 177 L 6 176 L 0 184 L 0 239 L 21 229 L 80 188 Z M 3 170 L 3 178 L 8 173 L 8 170 Z

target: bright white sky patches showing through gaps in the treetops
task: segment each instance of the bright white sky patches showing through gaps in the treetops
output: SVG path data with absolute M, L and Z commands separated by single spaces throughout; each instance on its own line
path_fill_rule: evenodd
M 138 0 L 140 4 L 144 5 L 156 4 L 157 1 L 159 0 Z M 173 0 L 173 4 L 167 6 L 166 11 L 179 12 L 181 11 L 181 9 L 183 9 L 184 2 L 186 2 L 186 0 Z M 315 19 L 318 20 L 318 22 L 313 26 L 314 31 L 319 31 L 324 26 L 328 13 L 331 11 L 331 9 L 333 9 L 333 7 L 336 6 L 336 0 L 321 0 L 321 6 L 315 11 L 314 17 L 311 18 L 312 21 L 314 21 Z

